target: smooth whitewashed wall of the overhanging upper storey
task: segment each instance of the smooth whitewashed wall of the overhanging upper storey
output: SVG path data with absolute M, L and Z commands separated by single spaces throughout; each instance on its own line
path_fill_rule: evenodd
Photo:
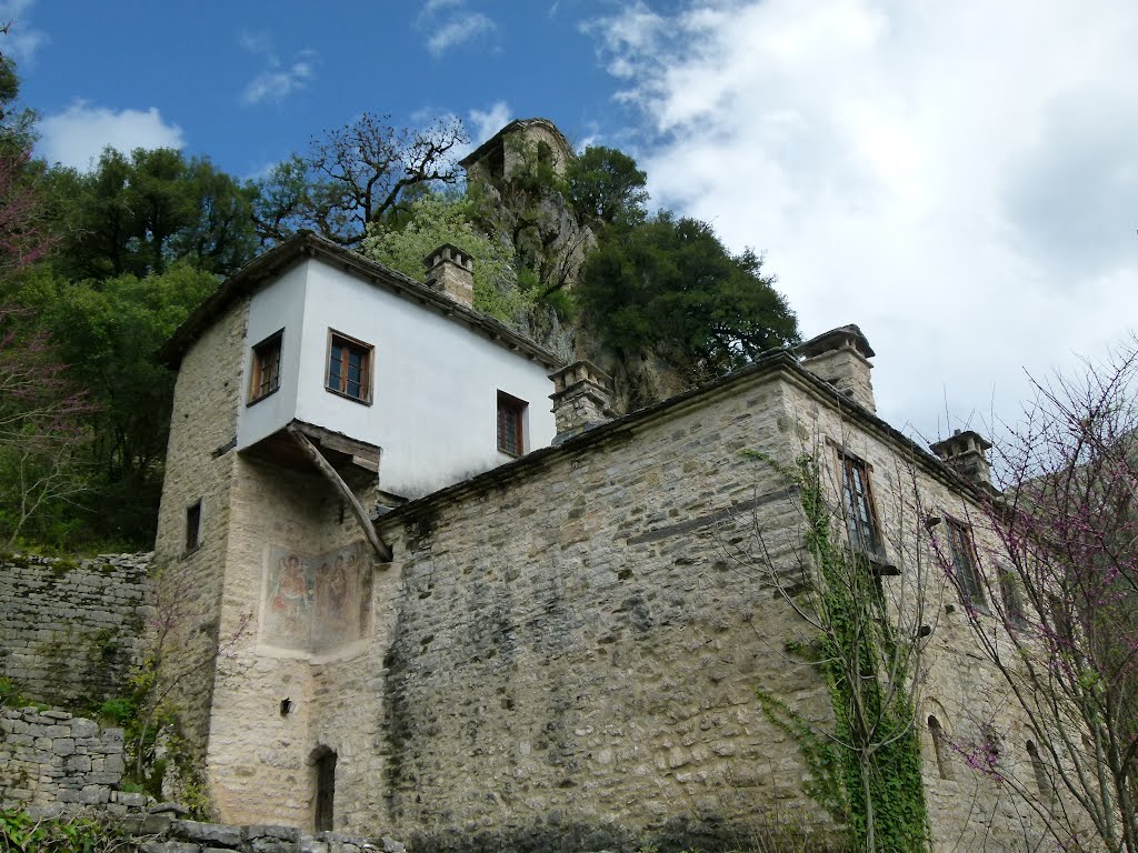
M 297 417 L 379 445 L 380 487 L 417 497 L 510 461 L 497 450 L 500 390 L 529 404 L 527 450 L 553 440 L 545 366 L 320 259 L 253 297 L 247 349 L 282 328 L 281 388 L 242 407 L 238 447 Z M 329 330 L 374 347 L 370 405 L 325 390 Z

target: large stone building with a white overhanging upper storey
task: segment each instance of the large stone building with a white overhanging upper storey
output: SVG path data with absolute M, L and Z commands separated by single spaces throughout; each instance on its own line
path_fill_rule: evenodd
M 825 833 L 801 751 L 756 701 L 832 719 L 786 653 L 809 631 L 780 469 L 806 453 L 920 636 L 937 848 L 1022 845 L 1015 801 L 949 748 L 1005 706 L 918 517 L 968 530 L 983 486 L 954 464 L 979 437 L 938 458 L 879 419 L 857 326 L 613 419 L 600 371 L 464 303 L 461 252 L 428 263 L 420 284 L 304 234 L 166 349 L 167 677 L 220 818 L 415 850 Z

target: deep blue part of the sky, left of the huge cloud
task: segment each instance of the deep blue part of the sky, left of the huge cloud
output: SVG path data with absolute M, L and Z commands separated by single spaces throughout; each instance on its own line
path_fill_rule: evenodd
M 504 115 L 503 102 L 516 115 L 555 109 L 577 141 L 622 111 L 582 30 L 611 6 L 481 6 L 489 8 L 354 0 L 327 14 L 290 0 L 41 1 L 18 3 L 9 17 L 17 43 L 39 36 L 26 58 L 16 51 L 25 101 L 73 119 L 41 151 L 73 164 L 97 144 L 89 131 L 100 117 L 249 176 L 364 110 L 397 125 L 456 115 L 473 133 L 480 115 Z

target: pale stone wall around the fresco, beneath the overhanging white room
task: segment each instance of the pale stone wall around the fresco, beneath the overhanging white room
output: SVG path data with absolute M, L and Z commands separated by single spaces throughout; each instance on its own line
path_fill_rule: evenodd
M 221 817 L 231 822 L 283 822 L 311 829 L 314 752 L 324 746 L 341 759 L 362 756 L 376 738 L 373 703 L 380 694 L 366 682 L 378 676 L 384 648 L 370 630 L 365 639 L 327 654 L 274 647 L 265 636 L 261 603 L 269 597 L 266 574 L 277 549 L 321 554 L 357 543 L 363 533 L 316 472 L 245 457 L 238 459 L 230 517 L 222 635 L 233 637 L 250 615 L 251 621 L 218 663 L 208 753 L 214 798 Z M 370 566 L 370 556 L 368 561 Z M 325 684 L 328 673 L 337 672 L 340 677 Z M 287 713 L 281 713 L 283 699 L 290 703 Z M 355 706 L 356 717 L 338 719 L 336 709 L 341 704 Z M 365 719 L 360 709 L 370 709 Z M 346 775 L 358 770 L 358 760 L 341 760 L 337 788 L 347 784 Z M 374 792 L 378 780 L 378 773 L 365 775 L 358 786 Z M 336 829 L 345 828 L 348 804 L 337 800 L 336 814 Z M 366 825 L 364 817 L 373 814 L 357 815 L 355 826 Z

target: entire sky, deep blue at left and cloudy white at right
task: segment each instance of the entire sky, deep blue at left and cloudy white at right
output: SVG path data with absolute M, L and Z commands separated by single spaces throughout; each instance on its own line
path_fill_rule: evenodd
M 879 411 L 1014 421 L 1138 321 L 1132 0 L 0 0 L 39 152 L 170 144 L 254 176 L 364 110 L 480 141 L 545 116 L 766 251 Z

